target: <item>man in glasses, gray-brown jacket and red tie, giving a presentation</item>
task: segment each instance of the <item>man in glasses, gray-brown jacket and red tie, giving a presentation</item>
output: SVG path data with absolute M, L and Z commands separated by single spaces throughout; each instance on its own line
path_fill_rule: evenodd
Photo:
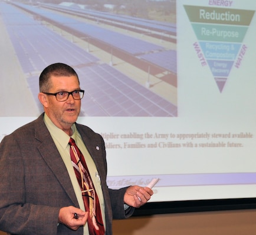
M 109 235 L 112 218 L 131 216 L 134 207 L 142 206 L 153 195 L 148 187 L 108 189 L 104 140 L 76 123 L 83 94 L 77 73 L 70 66 L 55 63 L 42 71 L 38 99 L 44 113 L 5 136 L 0 144 L 0 230 L 10 234 L 90 231 L 90 235 Z M 100 206 L 94 204 L 96 196 L 89 199 L 100 211 L 96 220 L 94 209 L 93 213 L 91 209 L 85 212 L 85 197 L 75 173 L 81 159 L 76 164 L 71 161 L 70 137 L 86 159 L 93 184 L 90 190 L 99 197 Z M 90 219 L 94 219 L 93 226 L 87 223 Z

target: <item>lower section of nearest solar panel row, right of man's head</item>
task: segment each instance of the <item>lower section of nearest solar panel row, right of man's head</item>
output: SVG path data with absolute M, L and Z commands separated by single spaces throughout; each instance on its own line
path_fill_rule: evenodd
M 176 106 L 103 64 L 79 69 L 81 87 L 86 89 L 86 115 L 103 116 L 176 116 Z M 91 112 L 91 113 L 89 113 Z

